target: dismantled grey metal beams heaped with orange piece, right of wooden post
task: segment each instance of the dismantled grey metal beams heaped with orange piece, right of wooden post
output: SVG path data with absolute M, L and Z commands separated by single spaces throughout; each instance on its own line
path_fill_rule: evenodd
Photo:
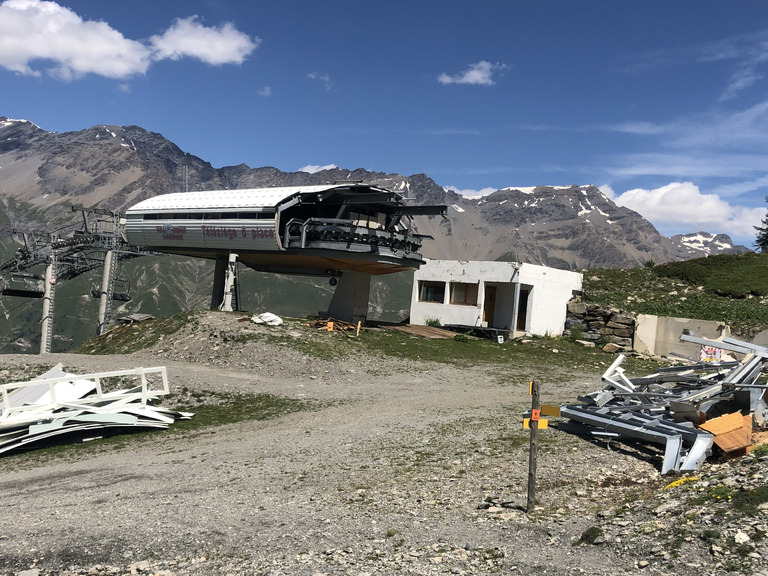
M 628 378 L 619 355 L 603 374 L 603 390 L 580 397 L 583 404 L 560 415 L 594 436 L 640 440 L 664 446 L 661 473 L 698 470 L 713 445 L 725 455 L 749 450 L 766 434 L 767 388 L 760 380 L 768 348 L 733 338 L 681 340 L 735 353 L 739 361 L 700 362 L 659 368 Z

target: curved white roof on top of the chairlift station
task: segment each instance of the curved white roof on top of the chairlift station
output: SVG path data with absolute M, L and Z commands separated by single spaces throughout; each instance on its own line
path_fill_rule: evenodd
M 345 187 L 347 186 L 336 184 L 173 192 L 142 200 L 128 208 L 127 213 L 153 210 L 253 210 L 255 208 L 274 208 L 281 201 L 296 194 L 313 194 Z

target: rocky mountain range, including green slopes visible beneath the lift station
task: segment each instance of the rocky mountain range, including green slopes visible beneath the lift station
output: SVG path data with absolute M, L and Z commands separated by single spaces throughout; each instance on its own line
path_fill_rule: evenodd
M 360 180 L 395 190 L 415 204 L 444 204 L 445 217 L 414 217 L 428 258 L 512 260 L 564 269 L 628 268 L 743 252 L 725 235 L 698 232 L 667 238 L 638 213 L 617 206 L 595 186 L 508 187 L 480 198 L 443 188 L 425 174 L 402 176 L 364 169 L 283 172 L 244 164 L 214 168 L 161 134 L 139 126 L 94 126 L 48 132 L 25 120 L 0 117 L 0 261 L 19 247 L 14 230 L 58 231 L 80 224 L 72 210 L 98 207 L 121 212 L 168 192 L 326 184 Z M 94 333 L 98 286 L 93 272 L 62 283 L 56 293 L 53 351 L 69 349 Z M 170 315 L 205 308 L 210 301 L 210 262 L 142 257 L 121 264 L 121 282 L 132 300 L 115 303 L 113 317 L 146 312 Z M 303 316 L 326 309 L 327 280 L 242 270 L 247 310 Z M 369 315 L 400 320 L 408 315 L 412 274 L 374 279 Z M 126 288 L 127 290 L 127 288 Z M 36 351 L 39 300 L 0 298 L 0 352 Z

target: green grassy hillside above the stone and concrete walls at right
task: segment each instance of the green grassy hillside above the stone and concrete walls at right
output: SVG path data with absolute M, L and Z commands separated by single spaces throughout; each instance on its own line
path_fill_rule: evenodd
M 584 271 L 584 300 L 642 314 L 768 329 L 768 254 L 724 254 L 628 270 Z

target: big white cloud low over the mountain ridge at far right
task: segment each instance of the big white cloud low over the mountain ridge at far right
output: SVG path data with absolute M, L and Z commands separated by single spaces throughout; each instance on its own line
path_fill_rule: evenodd
M 674 227 L 675 233 L 701 230 L 741 238 L 754 237 L 754 226 L 759 225 L 766 214 L 764 208 L 735 206 L 717 194 L 703 194 L 691 182 L 672 182 L 653 190 L 635 188 L 618 196 L 609 186 L 600 189 L 619 206 L 630 208 L 650 220 L 663 233 Z

